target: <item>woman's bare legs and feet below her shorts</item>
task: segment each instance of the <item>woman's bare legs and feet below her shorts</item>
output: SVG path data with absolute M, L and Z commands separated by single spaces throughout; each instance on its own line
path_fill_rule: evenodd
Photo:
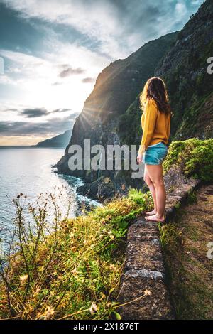
M 146 217 L 147 220 L 154 220 L 163 222 L 165 220 L 165 187 L 163 182 L 163 168 L 162 165 L 146 165 L 148 176 L 155 188 L 155 197 L 157 212 L 153 216 Z

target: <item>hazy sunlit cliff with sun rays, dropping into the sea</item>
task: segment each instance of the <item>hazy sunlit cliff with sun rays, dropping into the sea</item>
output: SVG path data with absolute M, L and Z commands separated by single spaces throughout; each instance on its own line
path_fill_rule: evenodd
M 97 77 L 94 90 L 84 102 L 84 108 L 75 121 L 70 144 L 57 165 L 59 173 L 83 178 L 86 183 L 89 183 L 89 188 L 92 188 L 91 183 L 94 182 L 92 197 L 97 193 L 100 180 L 102 189 L 106 185 L 106 191 L 101 190 L 104 197 L 114 194 L 114 190 L 119 190 L 121 184 L 124 189 L 129 185 L 141 186 L 143 183 L 141 180 L 131 178 L 130 173 L 121 171 L 101 171 L 101 175 L 98 171 L 70 171 L 69 147 L 77 144 L 84 149 L 84 139 L 90 139 L 91 146 L 102 144 L 104 148 L 107 148 L 107 145 L 121 144 L 118 129 L 121 115 L 134 102 L 148 77 L 154 75 L 156 64 L 175 42 L 177 34 L 170 33 L 146 43 L 128 58 L 111 63 Z M 140 115 L 141 112 L 139 117 Z M 132 122 L 134 122 L 133 119 Z M 98 184 L 97 180 L 99 180 Z M 82 191 L 85 193 L 87 189 L 82 188 Z

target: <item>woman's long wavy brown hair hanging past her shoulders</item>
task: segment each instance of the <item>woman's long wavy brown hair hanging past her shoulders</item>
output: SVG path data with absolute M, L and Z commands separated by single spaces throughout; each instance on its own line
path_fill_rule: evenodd
M 140 95 L 141 109 L 144 111 L 148 99 L 154 99 L 160 112 L 171 113 L 165 82 L 160 77 L 151 77 L 143 87 Z

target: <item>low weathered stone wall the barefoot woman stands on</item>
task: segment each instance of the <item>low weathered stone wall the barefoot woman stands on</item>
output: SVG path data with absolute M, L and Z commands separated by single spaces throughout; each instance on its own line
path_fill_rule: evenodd
M 195 190 L 200 181 L 188 179 L 181 188 L 168 194 L 166 218 Z M 121 279 L 118 308 L 122 319 L 175 319 L 165 285 L 165 267 L 158 225 L 144 217 L 133 221 L 127 233 L 126 262 Z

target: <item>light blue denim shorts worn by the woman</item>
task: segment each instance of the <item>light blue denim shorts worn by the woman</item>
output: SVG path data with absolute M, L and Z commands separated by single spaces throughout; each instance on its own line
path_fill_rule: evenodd
M 148 146 L 143 153 L 143 163 L 147 165 L 160 165 L 167 156 L 168 147 L 160 141 L 158 144 Z

